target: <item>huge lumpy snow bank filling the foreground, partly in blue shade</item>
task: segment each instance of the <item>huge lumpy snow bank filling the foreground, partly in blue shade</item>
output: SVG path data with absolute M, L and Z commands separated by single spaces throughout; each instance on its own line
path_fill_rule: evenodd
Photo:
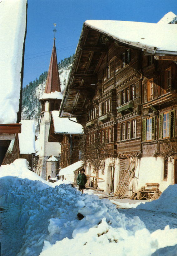
M 52 188 L 29 180 L 34 173 L 29 174 L 27 162 L 22 172 L 22 160 L 1 169 L 4 256 L 150 256 L 177 244 L 177 228 L 166 226 L 150 234 L 138 216 L 125 217 L 107 199 L 81 194 L 71 185 Z

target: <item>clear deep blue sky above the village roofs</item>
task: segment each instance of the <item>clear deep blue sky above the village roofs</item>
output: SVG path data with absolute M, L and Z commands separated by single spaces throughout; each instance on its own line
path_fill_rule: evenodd
M 48 70 L 53 23 L 56 23 L 58 62 L 75 53 L 87 19 L 158 22 L 177 14 L 176 0 L 28 0 L 23 86 Z

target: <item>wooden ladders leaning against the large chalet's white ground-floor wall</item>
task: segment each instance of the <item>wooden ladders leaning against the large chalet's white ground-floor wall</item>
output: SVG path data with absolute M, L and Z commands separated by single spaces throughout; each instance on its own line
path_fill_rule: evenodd
M 127 158 L 126 161 L 130 161 L 130 158 Z M 132 158 L 129 162 L 128 168 L 126 168 L 126 162 L 124 166 L 124 171 L 122 172 L 119 184 L 117 185 L 116 192 L 114 194 L 114 198 L 120 198 L 122 199 L 125 195 L 125 192 L 130 184 L 131 179 L 133 178 L 135 174 L 135 167 L 137 163 L 137 158 Z

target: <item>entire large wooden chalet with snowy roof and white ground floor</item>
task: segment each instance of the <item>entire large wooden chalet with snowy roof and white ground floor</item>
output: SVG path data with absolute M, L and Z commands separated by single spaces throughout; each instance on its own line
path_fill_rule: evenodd
M 145 183 L 159 183 L 161 191 L 177 183 L 176 29 L 110 20 L 83 25 L 60 114 L 85 125 L 87 145 L 99 126 L 107 156 L 98 186 L 105 191 L 130 196 Z M 93 172 L 90 163 L 86 174 Z

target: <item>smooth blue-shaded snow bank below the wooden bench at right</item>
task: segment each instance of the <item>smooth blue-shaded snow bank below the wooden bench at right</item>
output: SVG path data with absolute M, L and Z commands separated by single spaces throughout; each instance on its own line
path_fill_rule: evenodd
M 137 209 L 177 213 L 177 184 L 168 186 L 159 199 L 140 204 Z

